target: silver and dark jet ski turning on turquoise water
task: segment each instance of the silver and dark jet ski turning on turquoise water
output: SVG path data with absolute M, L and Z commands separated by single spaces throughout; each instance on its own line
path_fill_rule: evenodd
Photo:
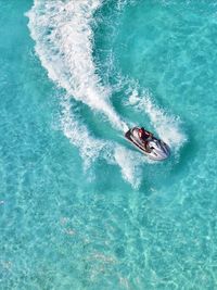
M 139 136 L 140 128 L 133 127 L 125 134 L 125 138 L 137 147 L 142 153 L 146 154 L 152 160 L 165 160 L 169 156 L 169 147 L 162 140 L 150 134 L 148 139 L 141 139 Z

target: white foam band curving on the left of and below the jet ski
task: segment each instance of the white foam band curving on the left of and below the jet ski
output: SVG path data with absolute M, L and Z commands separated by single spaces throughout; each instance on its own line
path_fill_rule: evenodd
M 62 100 L 61 125 L 64 135 L 76 146 L 85 162 L 85 168 L 99 156 L 106 160 L 108 164 L 120 167 L 120 172 L 126 181 L 133 188 L 138 188 L 141 182 L 141 164 L 145 161 L 141 154 L 130 151 L 115 142 L 93 138 L 88 128 L 78 122 L 78 116 L 73 115 L 71 110 L 69 97 Z

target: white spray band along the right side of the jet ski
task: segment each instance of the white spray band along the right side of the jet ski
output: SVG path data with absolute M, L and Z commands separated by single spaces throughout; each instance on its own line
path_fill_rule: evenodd
M 133 90 L 129 97 L 129 104 L 133 105 L 140 112 L 144 111 L 155 128 L 159 138 L 169 144 L 176 152 L 187 141 L 187 137 L 180 128 L 180 121 L 177 117 L 169 116 L 162 109 L 151 101 L 149 92 L 140 97 L 137 90 Z

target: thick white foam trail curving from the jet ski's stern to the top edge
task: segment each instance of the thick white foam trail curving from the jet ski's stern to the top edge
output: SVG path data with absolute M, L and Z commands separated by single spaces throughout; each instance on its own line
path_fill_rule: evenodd
M 99 0 L 35 0 L 27 13 L 28 26 L 49 77 L 126 131 L 126 123 L 110 103 L 110 88 L 101 86 L 92 56 L 91 24 L 101 4 Z

